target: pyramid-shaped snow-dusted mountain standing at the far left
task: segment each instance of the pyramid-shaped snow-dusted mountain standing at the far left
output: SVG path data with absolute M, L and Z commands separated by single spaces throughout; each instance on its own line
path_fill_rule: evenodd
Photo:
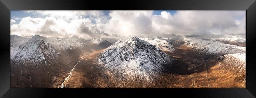
M 11 61 L 15 64 L 50 65 L 50 61 L 58 58 L 59 53 L 45 40 L 45 37 L 33 36 L 11 55 Z

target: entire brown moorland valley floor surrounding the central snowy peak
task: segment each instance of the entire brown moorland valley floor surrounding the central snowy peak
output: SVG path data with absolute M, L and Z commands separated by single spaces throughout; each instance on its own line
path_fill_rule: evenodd
M 154 83 L 124 80 L 123 76 L 104 70 L 97 65 L 96 60 L 103 50 L 83 54 L 83 59 L 72 71 L 72 76 L 64 82 L 65 88 L 245 88 L 245 73 L 226 71 L 218 56 L 196 54 L 189 47 L 180 46 L 172 53 L 166 52 L 173 58 L 173 67 L 169 72 L 158 75 Z M 73 65 L 65 69 L 58 68 L 58 71 L 48 68 L 40 72 L 41 76 L 25 73 L 28 71 L 24 70 L 28 69 L 13 68 L 11 87 L 60 88 L 76 63 L 71 62 Z M 48 73 L 43 74 L 45 72 Z

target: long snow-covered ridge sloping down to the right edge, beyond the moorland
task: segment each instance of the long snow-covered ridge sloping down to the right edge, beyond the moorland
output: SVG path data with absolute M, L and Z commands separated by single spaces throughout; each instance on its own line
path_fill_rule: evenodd
M 234 54 L 245 53 L 246 47 L 229 45 L 224 43 L 212 42 L 195 38 L 180 38 L 179 41 L 185 45 L 197 49 L 199 53 L 205 52 L 209 54 Z

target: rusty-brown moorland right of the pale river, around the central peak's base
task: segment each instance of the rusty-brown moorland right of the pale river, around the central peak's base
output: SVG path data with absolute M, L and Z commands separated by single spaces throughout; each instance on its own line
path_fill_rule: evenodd
M 95 58 L 101 51 L 84 56 L 65 88 L 245 88 L 244 74 L 219 69 L 221 59 L 216 56 L 195 56 L 188 47 L 181 46 L 173 53 L 167 52 L 174 59 L 173 68 L 170 73 L 159 75 L 151 86 L 122 80 L 122 76 L 115 76 L 95 65 Z

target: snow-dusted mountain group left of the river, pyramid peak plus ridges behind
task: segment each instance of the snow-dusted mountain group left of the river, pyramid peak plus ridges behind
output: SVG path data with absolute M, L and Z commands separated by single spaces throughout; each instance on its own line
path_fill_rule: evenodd
M 91 51 L 83 42 L 66 38 L 47 38 L 35 35 L 23 38 L 11 35 L 10 55 L 14 64 L 50 65 L 59 55 L 78 56 L 82 51 Z

